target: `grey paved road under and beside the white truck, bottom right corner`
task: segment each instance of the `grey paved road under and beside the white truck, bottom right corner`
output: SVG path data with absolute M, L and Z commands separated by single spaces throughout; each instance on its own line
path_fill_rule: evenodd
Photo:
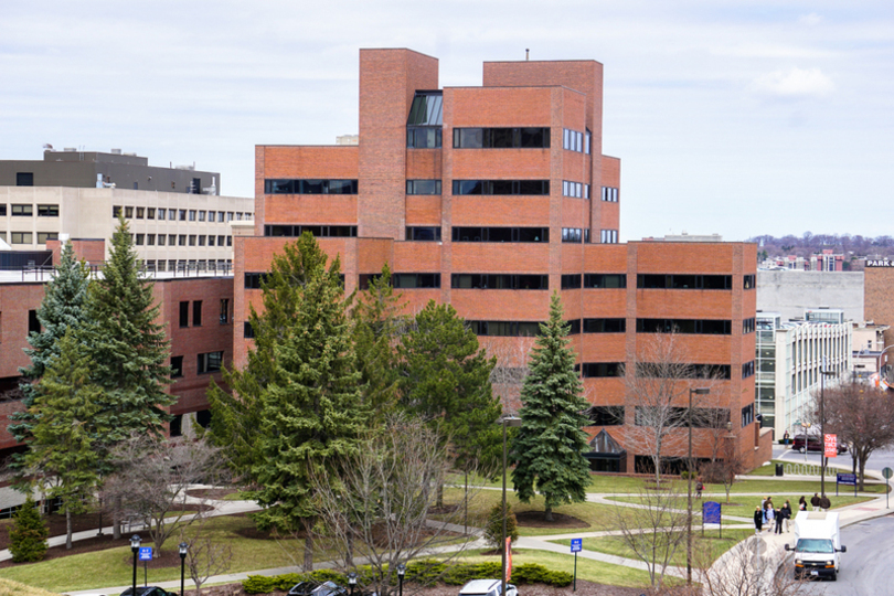
M 841 530 L 841 543 L 848 552 L 841 555 L 838 582 L 818 582 L 810 594 L 826 596 L 870 596 L 893 594 L 891 570 L 894 568 L 894 517 L 866 520 Z

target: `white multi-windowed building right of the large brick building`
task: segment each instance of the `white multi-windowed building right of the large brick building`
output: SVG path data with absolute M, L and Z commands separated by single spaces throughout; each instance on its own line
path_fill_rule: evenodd
M 762 426 L 775 438 L 803 430 L 821 383 L 850 377 L 851 322 L 840 309 L 806 310 L 803 320 L 783 322 L 778 312 L 757 312 L 755 402 Z M 824 364 L 823 364 L 824 363 Z M 823 375 L 820 371 L 833 373 Z

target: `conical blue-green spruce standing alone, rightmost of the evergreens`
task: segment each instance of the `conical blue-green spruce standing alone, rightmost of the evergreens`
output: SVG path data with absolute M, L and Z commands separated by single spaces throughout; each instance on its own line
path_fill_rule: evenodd
M 512 441 L 512 482 L 523 503 L 540 492 L 546 500 L 545 518 L 552 521 L 553 508 L 586 500 L 589 465 L 583 456 L 587 436 L 582 427 L 587 419 L 582 412 L 587 403 L 574 372 L 557 292 L 550 302 L 550 320 L 540 330 L 521 390 L 522 425 Z

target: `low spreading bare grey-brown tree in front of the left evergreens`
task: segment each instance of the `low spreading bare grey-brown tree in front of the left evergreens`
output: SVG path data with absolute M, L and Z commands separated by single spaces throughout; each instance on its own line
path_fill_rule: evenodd
M 189 499 L 191 485 L 214 485 L 226 473 L 220 449 L 204 440 L 134 434 L 113 454 L 115 473 L 106 481 L 106 502 L 120 502 L 120 513 L 147 520 L 160 551 L 178 528 L 201 519 L 205 499 Z M 198 504 L 188 511 L 187 504 Z

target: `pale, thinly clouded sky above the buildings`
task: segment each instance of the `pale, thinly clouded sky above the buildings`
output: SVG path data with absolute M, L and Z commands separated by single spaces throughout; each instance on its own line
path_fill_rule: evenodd
M 596 60 L 621 241 L 892 234 L 894 2 L 0 0 L 0 159 L 120 148 L 254 194 L 255 145 L 358 131 L 361 47 Z

